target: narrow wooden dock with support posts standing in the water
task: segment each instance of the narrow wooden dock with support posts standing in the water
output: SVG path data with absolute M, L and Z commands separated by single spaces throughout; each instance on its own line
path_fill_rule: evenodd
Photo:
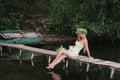
M 25 46 L 22 44 L 9 44 L 9 43 L 0 43 L 0 51 L 1 51 L 1 56 L 3 55 L 3 51 L 2 51 L 2 47 L 6 46 L 9 48 L 17 48 L 19 49 L 19 55 L 21 56 L 22 51 L 29 51 L 32 53 L 31 55 L 31 60 L 33 60 L 34 58 L 34 54 L 40 54 L 40 55 L 47 55 L 49 56 L 48 58 L 48 63 L 50 63 L 51 61 L 51 57 L 52 56 L 56 56 L 57 53 L 56 51 L 52 51 L 52 50 L 46 50 L 46 49 L 40 49 L 40 48 L 34 48 L 34 47 L 30 47 L 30 46 Z M 89 71 L 90 68 L 90 64 L 94 64 L 94 65 L 98 65 L 99 67 L 106 67 L 106 68 L 110 68 L 111 73 L 110 73 L 110 79 L 113 78 L 114 76 L 114 72 L 115 70 L 120 70 L 120 63 L 116 63 L 113 61 L 105 61 L 102 59 L 90 59 L 86 56 L 78 56 L 78 57 L 69 57 L 72 60 L 75 60 L 76 62 L 81 63 L 86 63 L 87 67 L 86 67 L 86 71 Z M 68 67 L 68 61 L 66 61 L 66 68 Z

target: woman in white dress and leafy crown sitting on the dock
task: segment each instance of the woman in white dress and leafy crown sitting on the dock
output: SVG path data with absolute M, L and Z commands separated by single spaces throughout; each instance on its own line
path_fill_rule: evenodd
M 87 30 L 83 28 L 78 28 L 76 33 L 78 34 L 77 40 L 75 42 L 74 46 L 69 46 L 68 50 L 61 50 L 57 57 L 46 67 L 47 69 L 53 69 L 58 63 L 60 63 L 64 58 L 70 57 L 70 56 L 78 56 L 79 52 L 84 49 L 84 52 L 87 52 L 87 55 L 89 58 L 92 58 L 90 56 L 90 51 L 88 48 L 88 41 L 86 38 Z

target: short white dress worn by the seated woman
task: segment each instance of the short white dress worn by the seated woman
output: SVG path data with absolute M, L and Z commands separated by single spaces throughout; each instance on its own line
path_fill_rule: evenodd
M 75 42 L 75 46 L 74 47 L 70 47 L 67 52 L 69 56 L 78 56 L 79 52 L 83 49 L 83 44 L 79 41 Z

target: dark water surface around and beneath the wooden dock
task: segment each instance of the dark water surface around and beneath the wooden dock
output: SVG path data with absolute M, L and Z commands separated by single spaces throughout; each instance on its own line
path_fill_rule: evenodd
M 43 47 L 54 50 L 58 46 Z M 89 47 L 94 58 L 120 62 L 120 46 L 90 45 Z M 4 51 L 4 55 L 0 58 L 0 80 L 110 80 L 109 68 L 98 69 L 98 66 L 92 65 L 90 71 L 86 72 L 86 64 L 80 66 L 78 62 L 69 60 L 67 69 L 63 68 L 64 63 L 61 62 L 53 71 L 48 71 L 45 69 L 47 56 L 37 55 L 32 66 L 29 60 L 15 60 L 15 57 L 18 58 L 18 53 L 17 50 L 12 50 L 11 53 L 8 50 Z M 28 55 L 30 53 L 24 52 L 22 56 L 26 58 Z M 120 71 L 115 71 L 113 80 L 120 80 Z

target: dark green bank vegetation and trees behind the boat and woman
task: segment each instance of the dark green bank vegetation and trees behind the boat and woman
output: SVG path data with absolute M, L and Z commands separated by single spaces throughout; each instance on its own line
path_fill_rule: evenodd
M 46 41 L 60 42 L 74 38 L 80 27 L 88 30 L 90 43 L 120 44 L 118 3 L 119 0 L 0 1 L 0 30 L 28 29 L 45 34 Z

